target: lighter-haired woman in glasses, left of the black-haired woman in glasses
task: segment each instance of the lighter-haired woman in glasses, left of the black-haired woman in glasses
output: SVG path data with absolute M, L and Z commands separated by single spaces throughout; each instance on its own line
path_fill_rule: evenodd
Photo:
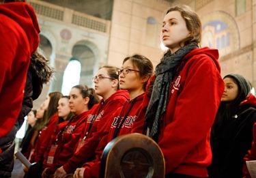
M 113 112 L 128 100 L 128 92 L 119 90 L 117 70 L 118 68 L 106 65 L 100 68 L 96 76 L 92 78 L 96 93 L 102 97 L 102 100 L 98 106 L 91 108 L 76 153 L 66 164 L 57 169 L 55 177 L 74 173 L 76 168 L 94 158 L 94 152 L 100 142 L 104 128 L 106 128 L 106 123 Z

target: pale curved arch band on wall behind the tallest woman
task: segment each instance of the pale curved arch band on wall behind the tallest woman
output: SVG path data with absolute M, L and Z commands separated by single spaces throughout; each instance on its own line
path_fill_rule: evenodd
M 228 31 L 226 31 L 226 33 L 229 40 L 232 40 L 232 42 L 231 42 L 231 46 L 229 46 L 229 48 L 226 49 L 225 52 L 223 52 L 223 55 L 227 55 L 228 53 L 231 53 L 231 50 L 238 50 L 240 48 L 240 33 L 238 30 L 238 25 L 236 24 L 236 20 L 234 20 L 234 18 L 230 14 L 228 14 L 227 12 L 218 10 L 218 11 L 210 12 L 209 14 L 205 14 L 205 16 L 201 18 L 201 21 L 203 25 L 203 35 L 205 34 L 205 31 L 206 31 L 205 26 L 211 22 L 220 21 L 221 23 L 227 25 Z M 208 27 L 208 30 L 207 30 L 208 32 L 211 31 L 210 28 L 211 27 Z M 214 36 L 214 34 L 212 35 Z

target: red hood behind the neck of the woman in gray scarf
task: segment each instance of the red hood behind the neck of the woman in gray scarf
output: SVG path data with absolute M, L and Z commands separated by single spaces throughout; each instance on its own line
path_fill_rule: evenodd
M 212 59 L 212 61 L 214 61 L 218 71 L 221 72 L 221 65 L 220 65 L 220 63 L 218 63 L 218 50 L 217 49 L 208 48 L 208 47 L 196 48 L 195 50 L 191 50 L 191 52 L 188 53 L 184 57 L 184 59 L 185 60 L 190 59 L 191 57 L 195 57 L 197 55 L 207 55 L 208 57 L 210 57 Z

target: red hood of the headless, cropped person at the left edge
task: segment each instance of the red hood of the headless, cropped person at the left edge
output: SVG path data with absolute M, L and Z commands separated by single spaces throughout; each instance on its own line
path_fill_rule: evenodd
M 0 14 L 7 16 L 20 25 L 27 35 L 31 54 L 34 53 L 40 41 L 38 35 L 40 28 L 31 5 L 23 2 L 1 3 Z

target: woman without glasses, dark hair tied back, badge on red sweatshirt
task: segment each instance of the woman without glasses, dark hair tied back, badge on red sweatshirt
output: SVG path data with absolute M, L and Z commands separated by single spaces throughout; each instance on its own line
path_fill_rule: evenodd
M 47 168 L 44 169 L 42 177 L 48 177 L 55 173 L 55 170 L 65 164 L 68 158 L 74 154 L 74 148 L 78 142 L 83 123 L 85 123 L 89 109 L 99 101 L 94 89 L 86 85 L 76 85 L 70 91 L 69 106 L 74 117 L 66 123 L 61 124 L 61 129 L 51 143 L 51 150 L 46 160 Z

